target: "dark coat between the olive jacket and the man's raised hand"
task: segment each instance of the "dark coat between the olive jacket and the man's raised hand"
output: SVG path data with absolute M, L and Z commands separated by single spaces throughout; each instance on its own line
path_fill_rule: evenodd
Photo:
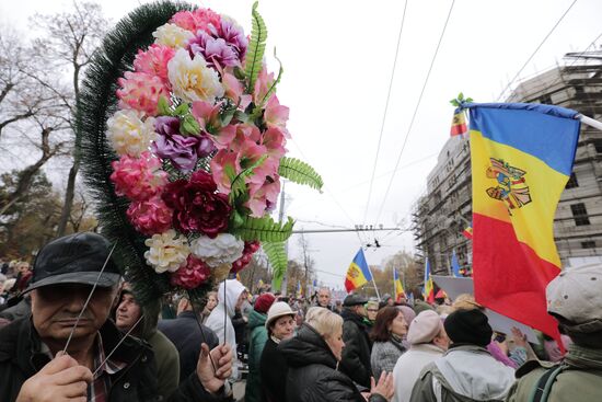
M 159 331 L 172 341 L 180 354 L 180 382 L 195 372 L 202 342 L 207 342 L 209 349 L 219 344 L 213 331 L 205 325 L 201 326 L 202 334 L 193 311 L 183 311 L 174 320 L 159 321 Z

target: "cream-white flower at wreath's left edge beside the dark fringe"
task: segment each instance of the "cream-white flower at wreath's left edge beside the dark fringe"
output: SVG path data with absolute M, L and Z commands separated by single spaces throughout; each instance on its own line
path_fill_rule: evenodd
M 129 154 L 139 158 L 140 153 L 148 151 L 152 140 L 157 138 L 154 133 L 154 117 L 144 117 L 143 113 L 135 110 L 118 111 L 106 124 L 108 137 L 118 156 Z

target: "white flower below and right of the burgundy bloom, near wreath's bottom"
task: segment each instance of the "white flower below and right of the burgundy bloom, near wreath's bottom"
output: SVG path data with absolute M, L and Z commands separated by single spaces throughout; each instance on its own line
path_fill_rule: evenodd
M 243 249 L 244 242 L 230 233 L 220 233 L 216 239 L 201 236 L 190 243 L 193 255 L 212 268 L 232 264 L 243 255 Z

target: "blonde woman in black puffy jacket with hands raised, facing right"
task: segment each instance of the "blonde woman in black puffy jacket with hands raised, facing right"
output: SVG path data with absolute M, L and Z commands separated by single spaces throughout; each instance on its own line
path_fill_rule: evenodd
M 338 371 L 343 348 L 343 319 L 321 307 L 308 310 L 297 336 L 283 341 L 278 349 L 287 360 L 287 401 L 289 402 L 384 402 L 393 395 L 391 374 L 372 379 L 369 393 L 360 393 L 349 377 Z

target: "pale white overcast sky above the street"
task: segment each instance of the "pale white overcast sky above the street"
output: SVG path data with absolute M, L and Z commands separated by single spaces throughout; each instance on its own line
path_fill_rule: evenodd
M 104 0 L 102 4 L 105 13 L 117 21 L 140 2 Z M 426 191 L 426 176 L 449 138 L 453 112 L 449 100 L 462 91 L 477 102 L 496 101 L 572 0 L 455 2 L 400 169 L 384 199 L 451 5 L 450 0 L 409 1 L 367 205 L 404 3 L 259 2 L 268 27 L 268 67 L 278 69 L 271 58 L 276 46 L 285 68 L 278 96 L 290 107 L 290 156 L 312 164 L 325 182 L 323 194 L 287 184 L 290 197 L 286 210 L 298 220 L 297 229 L 352 228 L 362 223 L 408 227 L 412 207 Z M 35 11 L 54 13 L 70 4 L 62 0 L 2 0 L 0 22 L 26 32 L 27 18 Z M 252 0 L 200 4 L 233 16 L 250 32 Z M 521 78 L 554 67 L 565 53 L 589 46 L 602 33 L 600 15 L 601 1 L 578 1 Z M 383 245 L 367 251 L 369 264 L 381 264 L 400 250 L 414 249 L 408 232 L 306 234 L 322 283 L 343 287 L 343 276 L 360 246 L 360 238 L 363 244 L 378 239 Z M 299 257 L 297 242 L 293 236 L 292 257 Z

